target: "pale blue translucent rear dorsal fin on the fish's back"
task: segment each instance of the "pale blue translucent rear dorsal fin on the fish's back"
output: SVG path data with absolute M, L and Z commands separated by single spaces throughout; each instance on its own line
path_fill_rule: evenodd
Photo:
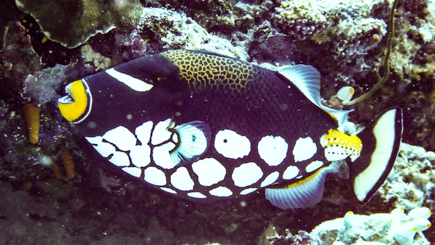
M 331 109 L 320 102 L 320 72 L 313 68 L 313 66 L 302 64 L 290 65 L 278 70 L 278 72 L 292 84 L 295 84 L 313 104 L 334 116 L 338 125 L 342 125 L 347 120 L 347 114 L 353 111 Z

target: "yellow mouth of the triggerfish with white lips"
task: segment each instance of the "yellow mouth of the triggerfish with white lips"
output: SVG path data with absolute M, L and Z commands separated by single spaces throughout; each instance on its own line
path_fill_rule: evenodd
M 78 122 L 84 118 L 90 108 L 90 92 L 85 81 L 77 80 L 65 88 L 68 95 L 58 100 L 58 107 L 62 116 L 69 122 Z

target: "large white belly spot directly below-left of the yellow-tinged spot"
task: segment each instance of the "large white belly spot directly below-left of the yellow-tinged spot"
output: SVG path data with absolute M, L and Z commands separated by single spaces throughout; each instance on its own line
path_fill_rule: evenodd
M 206 187 L 224 180 L 227 168 L 214 158 L 201 159 L 192 164 L 193 172 L 198 175 L 198 182 Z

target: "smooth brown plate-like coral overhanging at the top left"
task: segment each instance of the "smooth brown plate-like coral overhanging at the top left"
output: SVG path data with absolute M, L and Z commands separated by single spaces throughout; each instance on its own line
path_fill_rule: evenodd
M 137 0 L 15 2 L 36 19 L 47 38 L 65 47 L 77 47 L 116 26 L 134 26 L 142 10 Z

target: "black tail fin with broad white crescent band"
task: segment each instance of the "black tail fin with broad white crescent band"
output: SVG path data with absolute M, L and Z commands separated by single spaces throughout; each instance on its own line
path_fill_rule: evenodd
M 358 134 L 361 156 L 349 164 L 356 198 L 366 203 L 384 183 L 393 168 L 402 140 L 402 109 L 384 111 Z

